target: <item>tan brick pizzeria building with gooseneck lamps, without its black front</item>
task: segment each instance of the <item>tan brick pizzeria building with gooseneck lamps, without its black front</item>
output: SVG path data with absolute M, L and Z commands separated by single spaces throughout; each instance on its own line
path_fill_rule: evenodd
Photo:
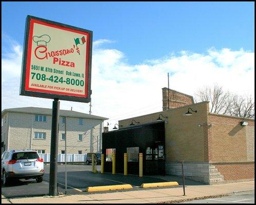
M 174 90 L 169 93 L 168 110 L 168 89 L 162 91 L 163 111 L 120 120 L 119 130 L 157 123 L 160 116 L 165 120 L 166 174 L 181 175 L 180 163 L 184 160 L 185 176 L 207 184 L 254 179 L 253 119 L 212 114 L 208 101 L 194 104 L 192 96 Z M 189 116 L 185 115 L 188 110 L 192 113 Z M 139 125 L 130 126 L 132 120 Z M 242 126 L 241 121 L 248 125 Z

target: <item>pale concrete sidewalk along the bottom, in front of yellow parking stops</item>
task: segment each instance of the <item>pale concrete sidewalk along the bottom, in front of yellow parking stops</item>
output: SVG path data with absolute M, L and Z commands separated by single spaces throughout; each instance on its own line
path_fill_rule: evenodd
M 92 193 L 86 195 L 63 195 L 61 197 L 3 198 L 2 203 L 157 203 L 181 202 L 213 196 L 224 196 L 234 192 L 254 191 L 254 180 L 221 185 L 188 185 L 186 196 L 183 188 L 158 188 L 139 191 L 118 191 L 113 193 Z M 10 201 L 10 202 L 9 202 Z

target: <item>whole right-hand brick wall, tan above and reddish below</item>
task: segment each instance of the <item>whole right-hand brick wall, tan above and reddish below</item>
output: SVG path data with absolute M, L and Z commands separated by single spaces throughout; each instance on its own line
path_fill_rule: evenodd
M 240 125 L 243 120 L 248 126 Z M 223 180 L 254 179 L 254 120 L 209 113 L 208 124 L 208 160 Z

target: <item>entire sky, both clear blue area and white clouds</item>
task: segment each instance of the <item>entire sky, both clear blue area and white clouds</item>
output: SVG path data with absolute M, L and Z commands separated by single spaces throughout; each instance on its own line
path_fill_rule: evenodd
M 19 95 L 27 15 L 93 31 L 92 114 L 113 127 L 161 111 L 168 72 L 170 89 L 194 97 L 216 84 L 254 96 L 254 2 L 2 2 L 2 110 L 52 107 Z M 71 107 L 89 112 L 61 100 Z

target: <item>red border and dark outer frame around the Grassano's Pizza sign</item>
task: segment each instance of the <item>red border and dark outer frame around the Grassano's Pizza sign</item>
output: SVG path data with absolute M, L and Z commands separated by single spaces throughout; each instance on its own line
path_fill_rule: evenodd
M 41 24 L 49 26 L 56 29 L 66 30 L 78 34 L 83 34 L 87 36 L 86 44 L 86 65 L 85 65 L 85 94 L 72 94 L 61 91 L 49 91 L 35 88 L 28 88 L 29 75 L 30 75 L 30 63 L 31 63 L 31 50 L 32 50 L 32 34 L 33 34 L 33 25 Z M 58 98 L 63 100 L 70 101 L 80 101 L 84 103 L 89 103 L 90 94 L 90 79 L 91 79 L 91 67 L 92 67 L 92 40 L 93 40 L 93 31 L 69 26 L 51 20 L 38 18 L 34 16 L 27 16 L 26 19 L 26 28 L 25 28 L 25 40 L 24 40 L 24 49 L 23 49 L 23 67 L 22 67 L 22 77 L 21 77 L 21 87 L 20 95 L 34 96 L 34 97 L 44 97 L 44 98 Z

